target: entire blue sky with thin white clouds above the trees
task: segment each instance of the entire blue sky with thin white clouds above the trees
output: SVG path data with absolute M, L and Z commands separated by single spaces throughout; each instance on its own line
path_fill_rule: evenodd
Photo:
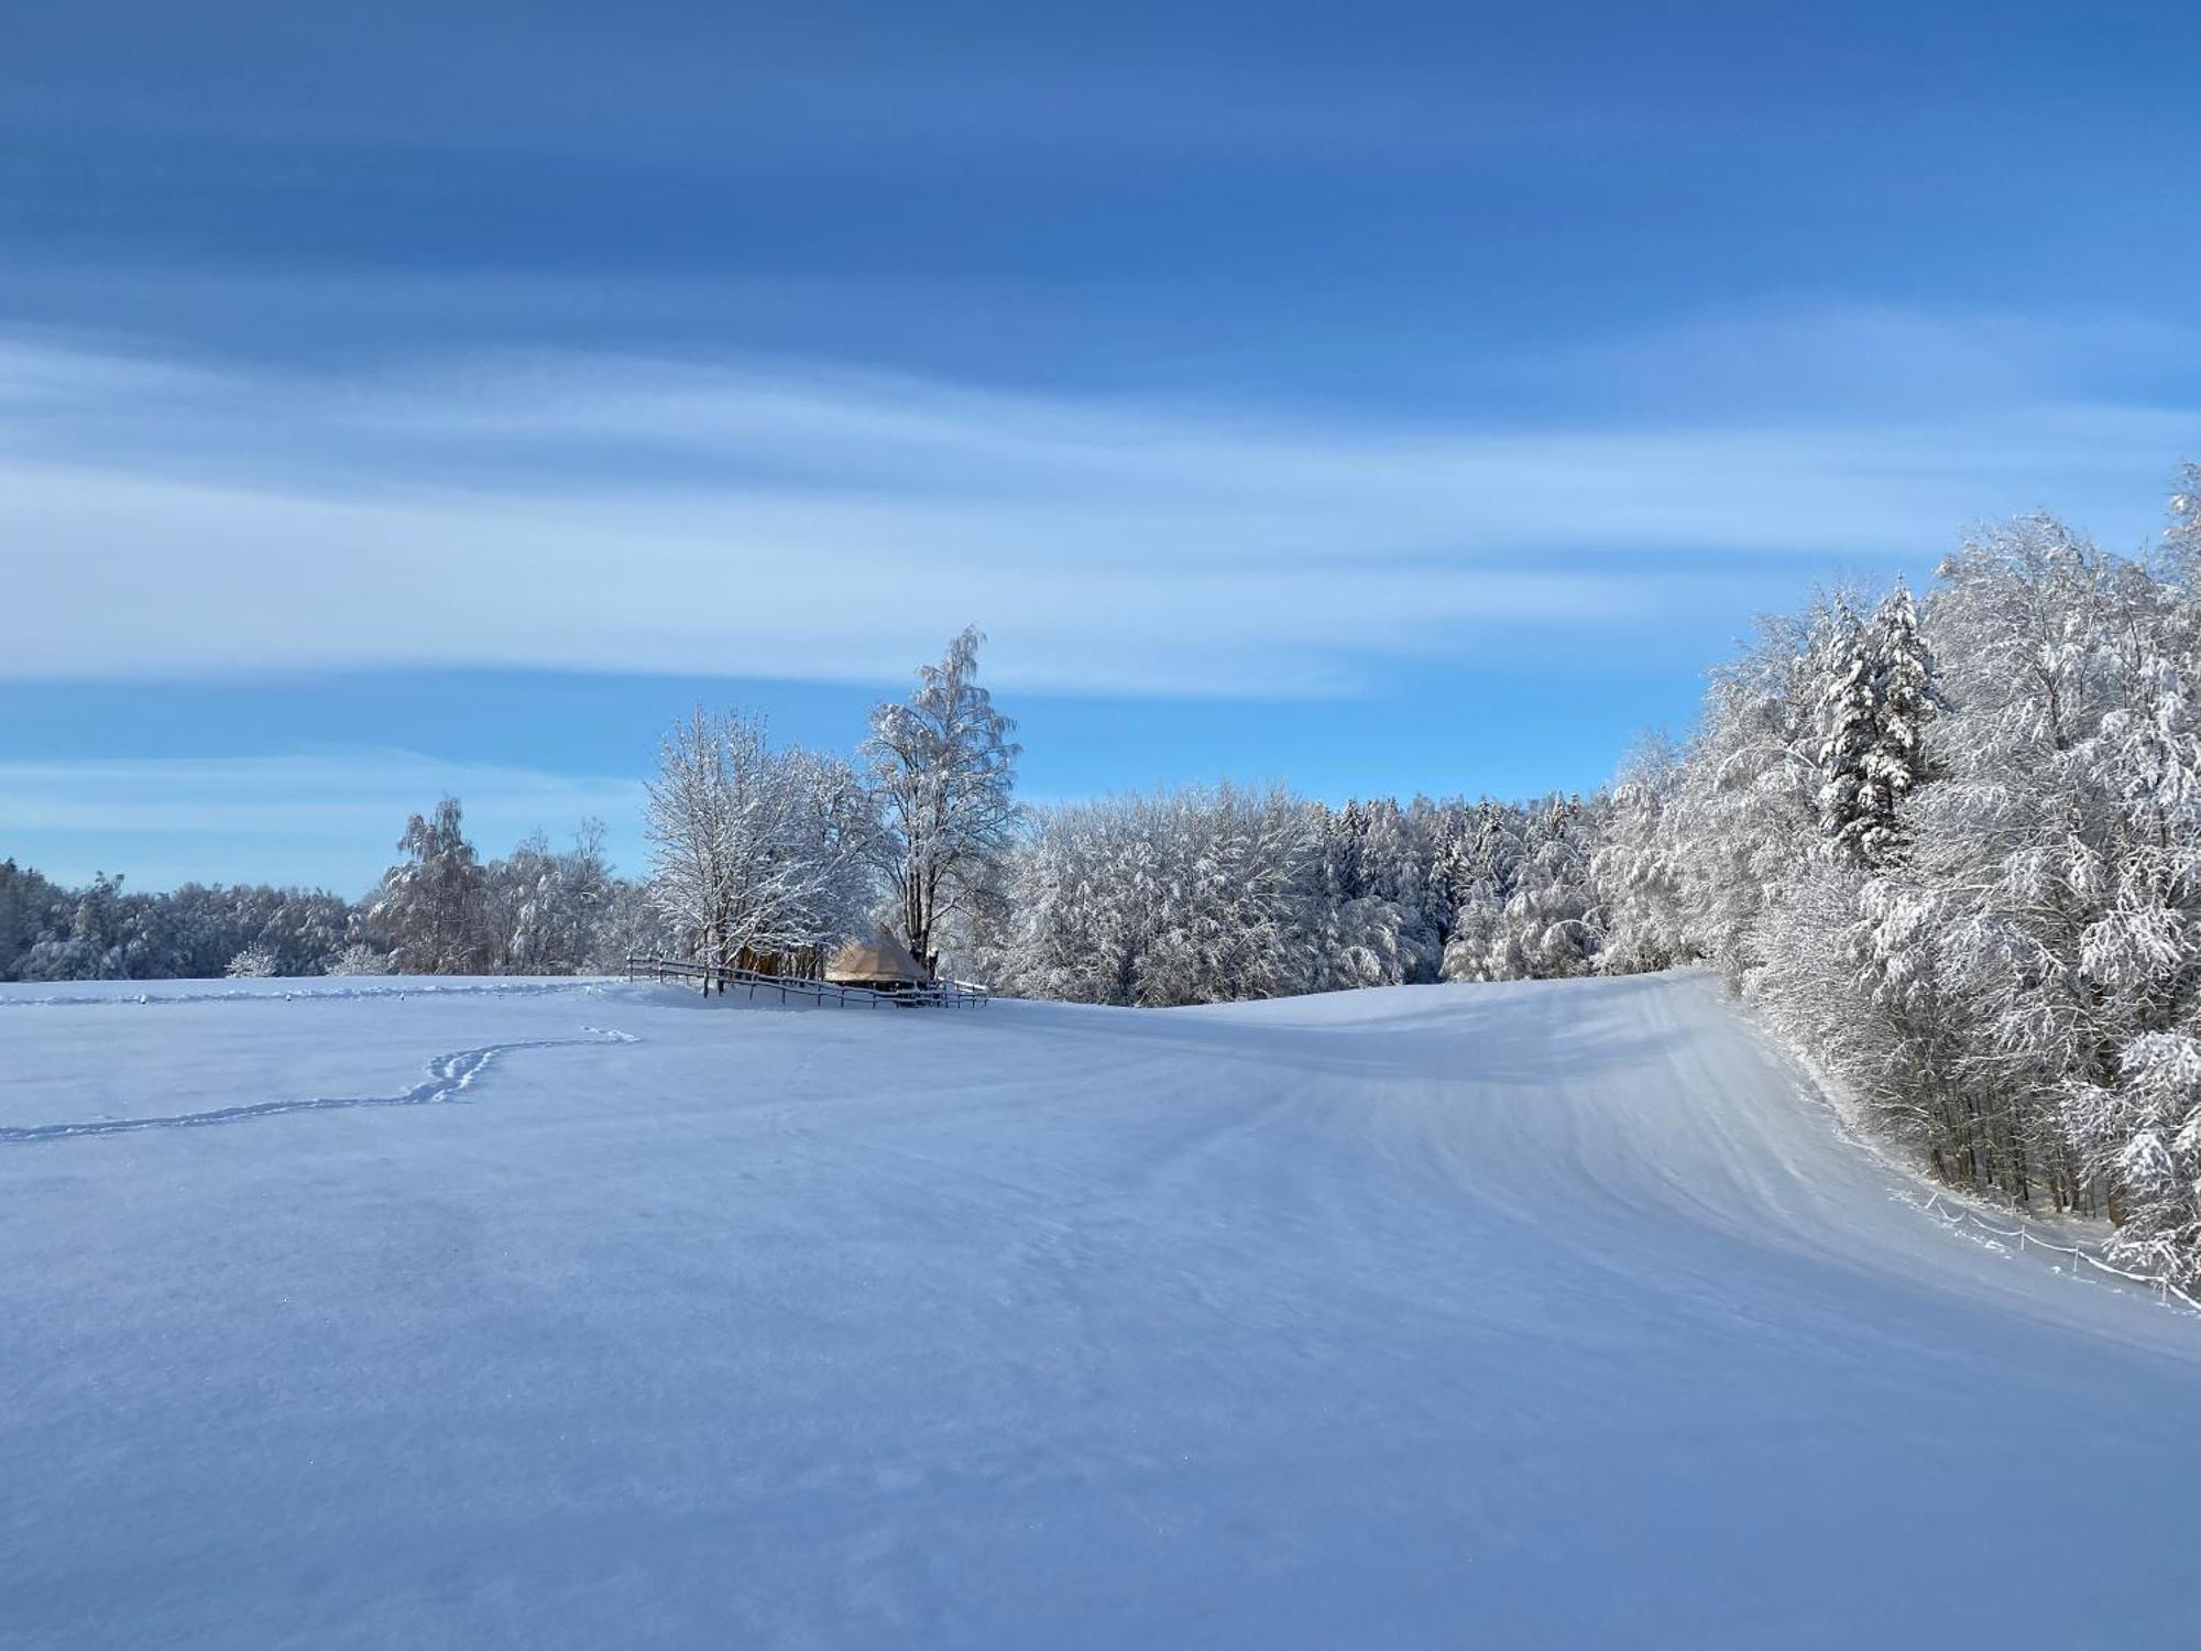
M 1193 13 L 1193 15 L 1189 15 Z M 1037 797 L 1587 786 L 2201 453 L 2186 4 L 75 4 L 0 59 L 0 854 L 363 889 L 960 625 Z

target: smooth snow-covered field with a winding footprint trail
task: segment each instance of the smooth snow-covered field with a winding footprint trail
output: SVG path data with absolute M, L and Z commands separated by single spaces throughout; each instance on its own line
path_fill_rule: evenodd
M 0 1640 L 2201 1644 L 2201 1321 L 1906 1191 L 1695 975 L 0 988 Z

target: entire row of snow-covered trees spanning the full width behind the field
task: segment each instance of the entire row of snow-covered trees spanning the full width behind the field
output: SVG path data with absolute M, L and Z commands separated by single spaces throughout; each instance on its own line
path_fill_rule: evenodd
M 2036 515 L 1917 597 L 1761 621 L 1697 726 L 1587 797 L 1017 808 L 977 647 L 880 704 L 856 762 L 746 715 L 678 724 L 643 883 L 592 826 L 480 861 L 453 799 L 359 905 L 7 863 L 0 980 L 577 973 L 874 922 L 1083 1004 L 1701 962 L 1941 1180 L 2109 1215 L 2124 1261 L 2201 1281 L 2201 469 L 2157 553 Z

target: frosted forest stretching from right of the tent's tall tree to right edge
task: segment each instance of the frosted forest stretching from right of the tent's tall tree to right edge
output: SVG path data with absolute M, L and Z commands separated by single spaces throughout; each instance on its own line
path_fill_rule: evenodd
M 1182 1004 L 1708 964 L 1954 1187 L 2201 1279 L 2201 471 L 2161 548 L 2049 515 L 1924 599 L 1765 619 L 1686 740 L 1591 797 L 1039 812 L 975 949 L 1008 991 Z

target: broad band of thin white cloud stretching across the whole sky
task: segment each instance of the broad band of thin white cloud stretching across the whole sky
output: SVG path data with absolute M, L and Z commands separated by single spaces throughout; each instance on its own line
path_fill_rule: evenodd
M 330 381 L 15 343 L 0 676 L 876 680 L 977 619 L 1019 687 L 1338 691 L 1494 638 L 1649 647 L 1737 555 L 1917 561 L 2049 502 L 2137 535 L 2194 434 L 2045 394 L 1490 429 L 579 354 Z

